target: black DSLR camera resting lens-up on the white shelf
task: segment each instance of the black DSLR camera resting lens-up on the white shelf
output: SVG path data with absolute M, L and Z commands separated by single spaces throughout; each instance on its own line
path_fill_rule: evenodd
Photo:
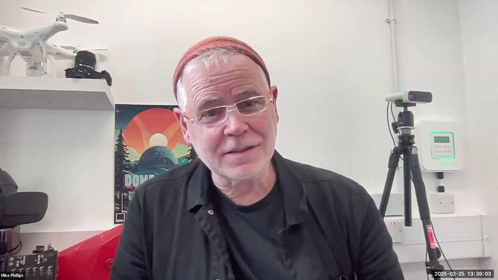
M 95 71 L 96 64 L 95 54 L 86 50 L 79 51 L 74 60 L 74 68 L 66 69 L 66 78 L 106 79 L 107 84 L 111 86 L 113 84 L 111 74 L 106 70 Z

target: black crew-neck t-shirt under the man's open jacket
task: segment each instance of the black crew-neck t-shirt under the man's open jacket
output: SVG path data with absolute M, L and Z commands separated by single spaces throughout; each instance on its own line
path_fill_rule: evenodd
M 237 280 L 291 279 L 277 242 L 285 227 L 283 200 L 278 183 L 258 202 L 235 204 L 216 186 L 223 213 L 222 228 Z

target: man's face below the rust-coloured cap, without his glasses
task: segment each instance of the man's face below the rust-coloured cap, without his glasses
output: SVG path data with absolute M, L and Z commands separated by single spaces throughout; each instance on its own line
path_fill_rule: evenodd
M 245 55 L 235 55 L 226 63 L 215 63 L 206 69 L 201 62 L 182 78 L 187 92 L 188 116 L 221 105 L 232 105 L 252 96 L 274 99 L 268 108 L 253 116 L 229 113 L 225 122 L 199 126 L 183 118 L 175 109 L 183 137 L 191 143 L 199 158 L 212 172 L 235 180 L 257 174 L 273 155 L 277 132 L 276 87 L 268 87 L 260 75 L 259 66 Z M 234 150 L 249 149 L 242 152 Z

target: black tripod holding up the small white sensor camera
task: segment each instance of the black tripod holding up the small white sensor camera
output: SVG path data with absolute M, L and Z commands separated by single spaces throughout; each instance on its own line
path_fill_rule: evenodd
M 432 230 L 432 223 L 429 212 L 429 205 L 427 204 L 427 196 L 425 194 L 425 185 L 422 180 L 420 172 L 420 165 L 418 162 L 417 147 L 414 146 L 415 141 L 411 130 L 414 129 L 413 114 L 408 111 L 408 107 L 415 106 L 413 103 L 403 103 L 400 100 L 394 102 L 396 107 L 403 107 L 403 112 L 398 114 L 398 121 L 394 120 L 392 128 L 395 133 L 401 131 L 398 136 L 398 145 L 393 148 L 389 156 L 389 171 L 385 180 L 384 191 L 380 200 L 380 215 L 382 219 L 385 216 L 385 209 L 387 208 L 387 201 L 391 192 L 392 181 L 394 180 L 394 173 L 398 167 L 399 157 L 403 155 L 403 185 L 404 185 L 404 213 L 405 213 L 405 226 L 411 227 L 411 184 L 410 179 L 413 180 L 413 187 L 417 196 L 418 211 L 420 219 L 422 220 L 422 227 L 424 229 L 425 243 L 427 253 L 429 255 L 429 262 L 425 263 L 428 275 L 432 276 L 433 270 L 443 270 L 444 267 L 439 264 L 438 259 L 441 256 L 439 248 L 436 247 L 434 241 L 434 233 Z M 440 279 L 434 277 L 434 279 Z

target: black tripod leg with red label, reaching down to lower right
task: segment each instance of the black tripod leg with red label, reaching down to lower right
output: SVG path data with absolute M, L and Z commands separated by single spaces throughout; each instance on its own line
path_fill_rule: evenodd
M 405 157 L 406 161 L 406 157 Z M 429 255 L 429 262 L 426 263 L 427 273 L 430 274 L 431 270 L 443 270 L 444 267 L 439 264 L 436 244 L 434 241 L 434 235 L 432 231 L 432 224 L 429 212 L 429 205 L 427 203 L 427 195 L 425 193 L 425 185 L 422 179 L 422 173 L 420 172 L 420 165 L 418 162 L 417 147 L 413 146 L 410 155 L 410 167 L 411 174 L 413 176 L 413 187 L 415 189 L 415 195 L 417 197 L 418 211 L 420 213 L 420 219 L 422 220 L 422 227 L 424 229 L 425 244 L 427 247 L 427 253 Z M 439 279 L 434 278 L 434 279 Z

